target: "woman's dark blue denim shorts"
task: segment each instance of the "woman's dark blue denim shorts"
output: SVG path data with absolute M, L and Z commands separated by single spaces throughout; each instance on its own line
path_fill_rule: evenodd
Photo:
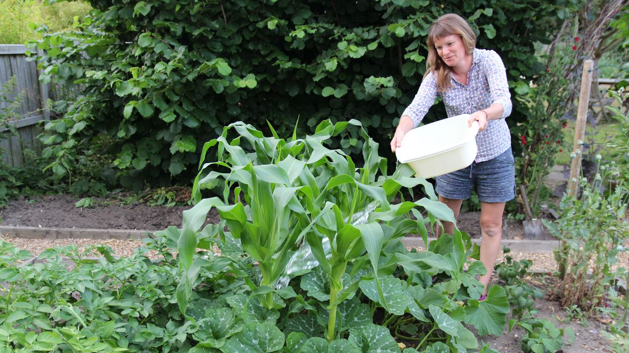
M 515 162 L 511 147 L 492 160 L 472 163 L 437 176 L 438 195 L 453 200 L 470 197 L 472 188 L 481 202 L 507 202 L 515 197 Z

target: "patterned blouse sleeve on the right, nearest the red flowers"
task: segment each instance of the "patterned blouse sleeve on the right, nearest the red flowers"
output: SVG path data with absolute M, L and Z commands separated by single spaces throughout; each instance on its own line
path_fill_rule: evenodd
M 490 50 L 487 52 L 486 60 L 483 60 L 483 70 L 489 84 L 492 104 L 498 103 L 503 106 L 503 116 L 501 119 L 511 115 L 511 94 L 509 93 L 509 83 L 507 82 L 506 68 L 498 53 Z

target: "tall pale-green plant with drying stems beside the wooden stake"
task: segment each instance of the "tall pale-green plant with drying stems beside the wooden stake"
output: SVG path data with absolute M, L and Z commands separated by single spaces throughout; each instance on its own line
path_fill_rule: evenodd
M 604 305 L 605 293 L 617 275 L 611 265 L 618 261 L 619 246 L 629 237 L 623 220 L 627 205 L 625 188 L 616 185 L 613 192 L 602 192 L 608 175 L 618 176 L 620 171 L 615 163 L 601 165 L 598 171 L 602 175 L 596 173 L 594 180 L 574 180 L 580 184 L 579 195 L 564 195 L 559 219 L 544 220 L 551 234 L 565 244 L 555 251 L 557 262 L 567 265 L 555 294 L 565 307 L 577 305 L 587 315 Z M 591 278 L 587 275 L 590 269 L 594 273 Z

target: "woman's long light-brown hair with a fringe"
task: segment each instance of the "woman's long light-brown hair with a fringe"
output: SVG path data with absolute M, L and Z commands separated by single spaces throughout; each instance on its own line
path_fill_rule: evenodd
M 467 53 L 470 55 L 474 53 L 474 48 L 476 47 L 476 34 L 472 31 L 469 23 L 458 14 L 444 14 L 430 26 L 428 31 L 428 59 L 426 60 L 424 77 L 434 71 L 437 75 L 437 90 L 439 92 L 445 92 L 452 86 L 450 82 L 452 68 L 446 65 L 437 54 L 435 40 L 450 35 L 460 36 Z

